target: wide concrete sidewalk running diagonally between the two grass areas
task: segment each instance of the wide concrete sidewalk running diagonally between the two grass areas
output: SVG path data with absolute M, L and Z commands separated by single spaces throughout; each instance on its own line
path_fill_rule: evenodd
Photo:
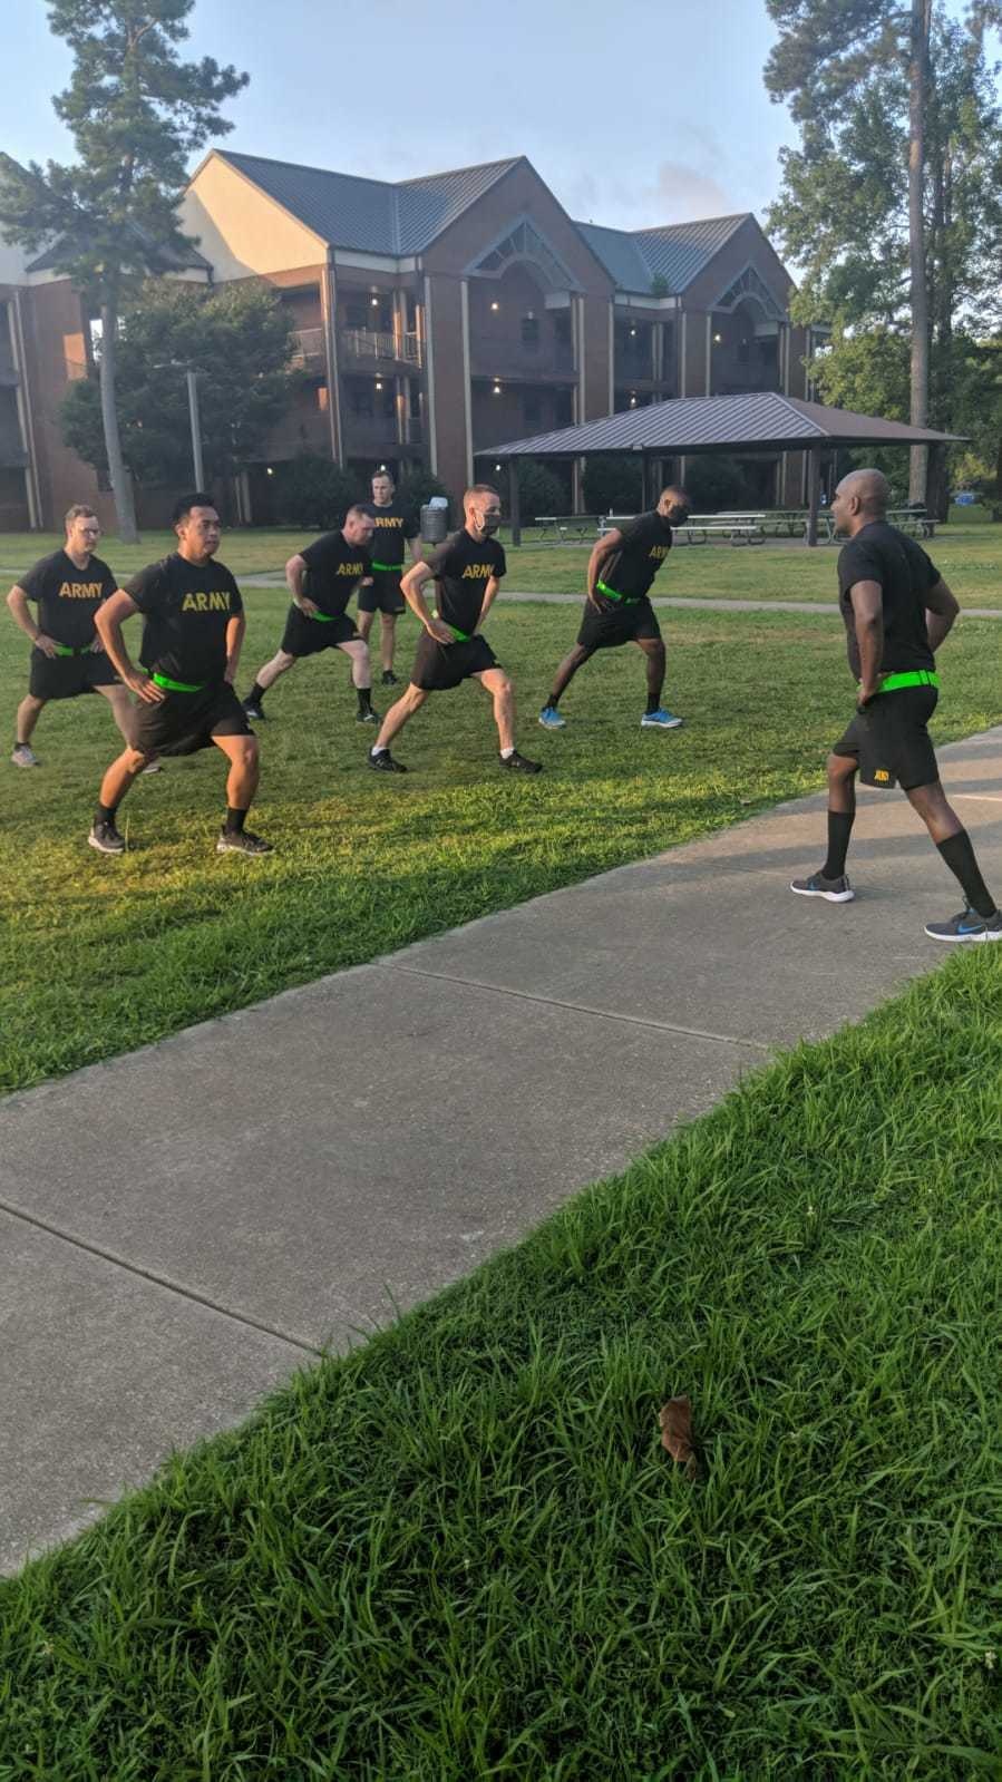
M 1002 889 L 1002 729 L 941 750 Z M 465 1274 L 801 1035 L 940 964 L 961 898 L 824 797 L 0 1103 L 0 1566 Z

